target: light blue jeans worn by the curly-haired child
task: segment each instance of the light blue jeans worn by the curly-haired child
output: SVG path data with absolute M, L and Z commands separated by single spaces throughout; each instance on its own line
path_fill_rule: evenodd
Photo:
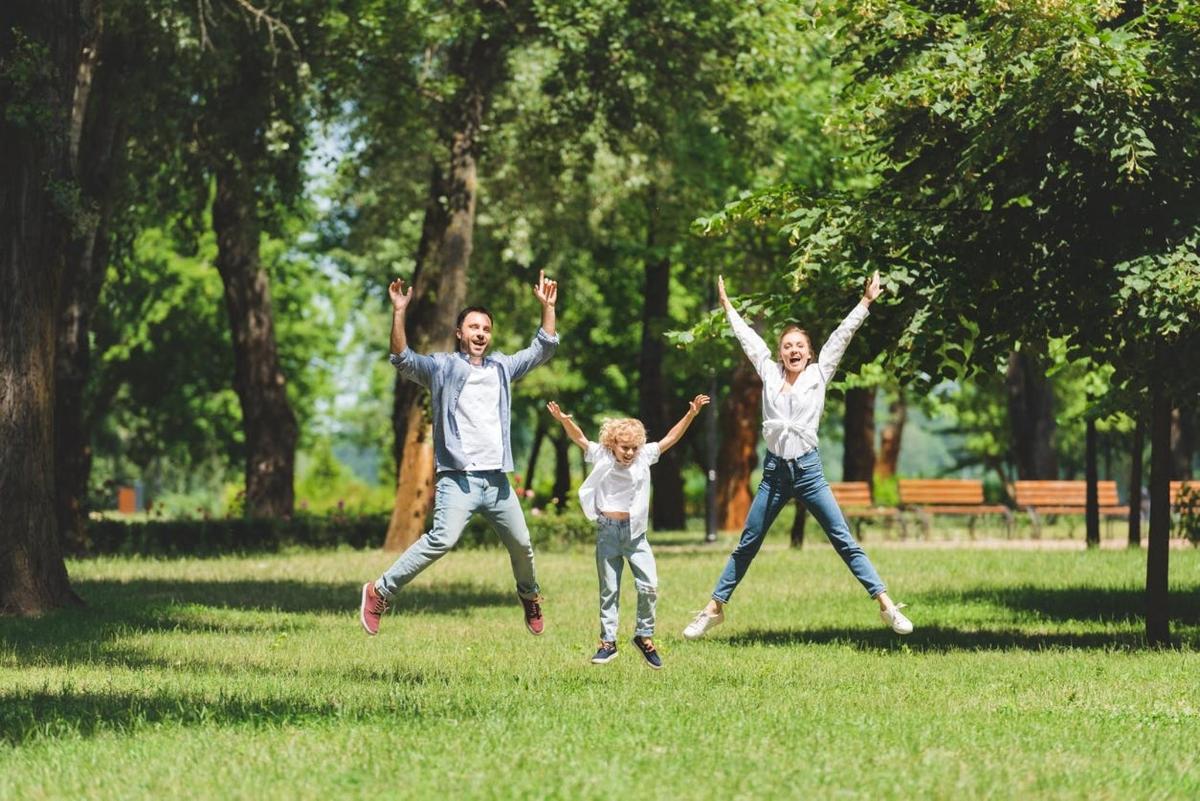
M 646 532 L 630 537 L 629 520 L 596 518 L 596 574 L 600 578 L 600 639 L 617 642 L 617 608 L 620 602 L 620 572 L 629 560 L 637 588 L 637 631 L 654 637 L 654 604 L 659 600 L 659 573 Z

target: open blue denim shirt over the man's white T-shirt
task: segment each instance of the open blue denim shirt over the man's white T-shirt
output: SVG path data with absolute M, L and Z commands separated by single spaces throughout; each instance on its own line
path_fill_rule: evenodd
M 512 444 L 509 436 L 512 416 L 512 381 L 521 379 L 534 367 L 545 365 L 558 349 L 558 335 L 550 336 L 538 329 L 533 342 L 524 350 L 511 356 L 502 353 L 484 356 L 485 365 L 496 365 L 500 373 L 500 436 L 504 440 L 504 472 L 512 472 Z M 433 456 L 437 459 L 438 472 L 443 470 L 466 470 L 467 459 L 458 436 L 458 421 L 455 411 L 458 409 L 458 396 L 470 374 L 467 354 L 430 354 L 425 356 L 404 348 L 403 353 L 392 354 L 391 363 L 400 374 L 409 381 L 416 381 L 433 395 Z

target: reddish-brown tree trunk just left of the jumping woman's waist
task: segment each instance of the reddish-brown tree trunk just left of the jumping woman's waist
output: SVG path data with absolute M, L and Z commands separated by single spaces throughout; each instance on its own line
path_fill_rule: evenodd
M 758 415 L 762 381 L 754 367 L 739 361 L 730 392 L 721 404 L 725 422 L 716 458 L 716 516 L 722 531 L 737 531 L 750 513 L 750 474 L 758 464 Z

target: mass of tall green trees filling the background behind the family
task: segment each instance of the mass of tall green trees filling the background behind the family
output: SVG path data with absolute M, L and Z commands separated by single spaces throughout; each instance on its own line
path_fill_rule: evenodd
M 558 499 L 580 468 L 541 401 L 656 436 L 715 380 L 739 526 L 758 387 L 714 276 L 820 339 L 874 266 L 895 291 L 830 403 L 845 478 L 894 476 L 913 415 L 1003 481 L 1086 471 L 1063 418 L 1136 454 L 1109 475 L 1142 426 L 1153 486 L 1189 475 L 1195 5 L 1044 5 L 10 4 L 0 607 L 71 598 L 64 548 L 118 472 L 233 468 L 246 514 L 289 516 L 298 452 L 334 481 L 331 440 L 382 446 L 389 544 L 415 538 L 425 398 L 374 359 L 397 275 L 426 350 L 468 302 L 520 347 L 527 285 L 562 281 L 564 347 L 515 421 Z M 672 453 L 660 529 L 707 464 L 698 435 Z

